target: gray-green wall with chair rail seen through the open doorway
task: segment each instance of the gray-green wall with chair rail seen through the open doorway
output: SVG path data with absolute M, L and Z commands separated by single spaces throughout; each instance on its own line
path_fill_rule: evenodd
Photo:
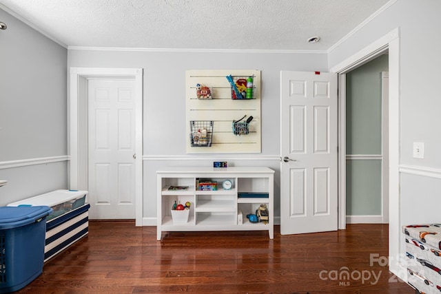
M 346 213 L 382 215 L 380 159 L 360 156 L 382 154 L 381 72 L 388 71 L 384 54 L 346 74 Z M 387 171 L 386 171 L 387 172 Z

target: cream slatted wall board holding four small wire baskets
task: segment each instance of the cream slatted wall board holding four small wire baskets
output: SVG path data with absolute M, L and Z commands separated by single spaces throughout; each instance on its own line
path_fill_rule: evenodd
M 253 76 L 252 99 L 232 99 L 232 90 L 226 76 Z M 212 88 L 212 99 L 196 98 L 196 85 Z M 185 105 L 187 154 L 260 153 L 260 70 L 187 70 L 185 76 Z M 233 134 L 233 120 L 253 116 L 249 134 Z M 192 147 L 191 120 L 213 120 L 211 147 Z

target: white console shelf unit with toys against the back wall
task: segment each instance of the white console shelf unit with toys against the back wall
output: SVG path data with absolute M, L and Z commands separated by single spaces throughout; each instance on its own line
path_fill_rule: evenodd
M 173 167 L 156 171 L 158 189 L 157 240 L 163 231 L 268 231 L 274 238 L 274 170 L 268 167 Z M 198 191 L 196 182 L 209 179 L 217 182 L 217 191 Z M 223 189 L 224 180 L 232 181 L 231 189 Z M 170 186 L 188 187 L 170 191 Z M 239 198 L 240 192 L 267 193 L 267 198 Z M 173 222 L 174 202 L 191 203 L 187 222 Z M 269 220 L 249 222 L 247 214 L 256 213 L 266 204 Z M 238 213 L 242 212 L 242 224 Z

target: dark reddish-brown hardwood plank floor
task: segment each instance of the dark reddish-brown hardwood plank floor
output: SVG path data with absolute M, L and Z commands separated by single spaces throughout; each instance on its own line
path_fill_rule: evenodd
M 89 235 L 45 263 L 17 293 L 409 293 L 370 256 L 387 256 L 388 227 L 302 235 L 163 234 L 134 222 L 90 221 Z M 383 265 L 383 266 L 382 266 Z M 349 273 L 345 280 L 344 273 Z

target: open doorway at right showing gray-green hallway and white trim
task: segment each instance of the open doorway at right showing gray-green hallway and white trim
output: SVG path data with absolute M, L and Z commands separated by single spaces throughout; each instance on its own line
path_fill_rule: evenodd
M 346 220 L 389 222 L 389 56 L 345 74 Z

